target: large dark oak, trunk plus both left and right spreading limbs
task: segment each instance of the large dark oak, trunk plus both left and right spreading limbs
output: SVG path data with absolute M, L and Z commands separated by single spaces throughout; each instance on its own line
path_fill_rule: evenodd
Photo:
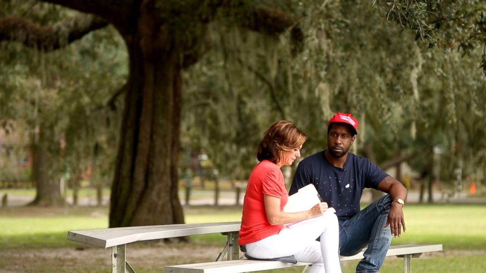
M 17 16 L 0 19 L 0 40 L 44 51 L 113 24 L 126 43 L 129 76 L 111 191 L 110 227 L 183 223 L 177 194 L 181 72 L 208 49 L 216 19 L 275 35 L 298 24 L 282 9 L 231 0 L 46 0 L 82 13 L 51 26 Z M 109 75 L 106 75 L 109 77 Z

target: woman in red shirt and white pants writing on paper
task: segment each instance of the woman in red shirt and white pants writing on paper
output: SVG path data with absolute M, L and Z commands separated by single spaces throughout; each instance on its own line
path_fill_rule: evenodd
M 280 167 L 300 157 L 307 136 L 290 121 L 277 121 L 258 147 L 243 202 L 238 243 L 259 259 L 293 255 L 313 263 L 309 273 L 340 273 L 338 218 L 319 203 L 307 211 L 284 212 L 289 198 Z M 316 238 L 320 237 L 320 242 Z M 325 271 L 324 271 L 325 269 Z

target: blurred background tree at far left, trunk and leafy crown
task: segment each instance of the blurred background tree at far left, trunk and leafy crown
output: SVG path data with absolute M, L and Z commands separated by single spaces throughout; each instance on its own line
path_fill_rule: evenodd
M 2 5 L 4 12 L 23 14 L 34 23 L 48 24 L 72 16 L 67 9 L 37 1 L 23 1 L 18 5 L 3 2 Z M 4 32 L 12 40 L 24 38 L 24 43 L 29 45 L 25 47 L 9 41 L 1 44 L 2 120 L 14 120 L 17 132 L 30 132 L 28 143 L 32 147 L 33 181 L 37 189 L 32 204 L 61 205 L 64 200 L 59 180 L 66 171 L 66 160 L 75 157 L 73 148 L 77 148 L 77 153 L 86 151 L 83 144 L 93 142 L 87 137 L 90 134 L 84 134 L 85 130 L 109 128 L 106 123 L 102 126 L 100 123 L 110 117 L 110 111 L 100 113 L 96 109 L 110 99 L 108 91 L 111 90 L 106 86 L 120 85 L 117 81 L 126 74 L 118 67 L 119 58 L 124 59 L 124 48 L 121 46 L 120 54 L 120 49 L 117 52 L 113 46 L 120 43 L 115 42 L 119 36 L 112 38 L 114 30 L 111 28 L 65 47 L 75 38 L 75 35 L 68 35 L 64 29 L 66 25 L 35 28 L 32 22 L 14 16 L 0 21 L 2 26 L 13 28 L 11 32 Z M 68 27 L 80 24 L 76 20 L 67 21 Z M 76 35 L 80 37 L 80 33 Z M 52 43 L 41 41 L 41 38 L 51 39 Z M 104 44 L 93 50 L 93 44 L 99 39 L 104 40 Z M 110 41 L 113 42 L 110 44 Z M 63 49 L 54 50 L 58 47 Z M 121 56 L 117 58 L 117 54 Z M 112 77 L 106 79 L 99 75 L 100 71 L 110 72 Z M 67 143 L 67 151 L 60 147 L 62 142 Z M 72 169 L 86 167 L 82 161 L 76 164 L 79 168 Z

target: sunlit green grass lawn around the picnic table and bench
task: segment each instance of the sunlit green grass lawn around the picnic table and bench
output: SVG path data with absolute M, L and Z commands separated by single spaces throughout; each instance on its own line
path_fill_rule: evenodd
M 71 207 L 65 215 L 62 208 L 46 209 L 37 207 L 0 208 L 0 272 L 29 272 L 28 263 L 25 271 L 9 271 L 8 260 L 11 253 L 30 253 L 36 249 L 52 252 L 66 251 L 82 247 L 81 244 L 66 240 L 69 230 L 106 228 L 108 216 L 106 207 Z M 228 222 L 241 219 L 240 206 L 193 206 L 185 208 L 186 223 Z M 424 255 L 413 259 L 413 272 L 486 272 L 486 206 L 485 205 L 407 205 L 405 219 L 407 232 L 401 238 L 393 239 L 393 244 L 436 244 L 444 245 L 442 253 Z M 219 234 L 199 235 L 192 238 L 193 244 L 206 248 L 218 248 L 225 242 Z M 137 244 L 133 247 L 136 248 Z M 175 244 L 171 248 L 183 248 L 184 244 Z M 132 247 L 130 247 L 132 248 Z M 149 247 L 148 249 L 150 249 Z M 157 248 L 154 246 L 153 248 Z M 109 253 L 109 250 L 103 250 Z M 108 251 L 108 252 L 106 252 Z M 214 253 L 216 256 L 218 253 Z M 104 254 L 100 255 L 103 257 Z M 109 254 L 108 254 L 109 255 Z M 159 255 L 159 256 L 162 256 Z M 187 256 L 187 253 L 186 253 Z M 195 253 L 189 255 L 194 257 Z M 109 258 L 109 256 L 108 256 Z M 87 258 L 89 259 L 89 258 Z M 93 257 L 93 259 L 96 259 Z M 198 260 L 194 257 L 194 261 Z M 42 262 L 42 261 L 41 261 Z M 95 261 L 97 266 L 82 265 L 80 272 L 110 272 L 108 261 Z M 108 265 L 106 265 L 108 263 Z M 161 271 L 154 269 L 151 261 L 136 264 L 137 272 Z M 177 264 L 178 260 L 170 264 Z M 343 264 L 343 272 L 354 272 L 356 261 Z M 51 271 L 49 260 L 37 265 L 36 272 Z M 77 266 L 74 266 L 77 267 Z M 159 265 L 157 265 L 159 267 Z M 70 267 L 73 269 L 73 267 Z M 300 272 L 301 269 L 282 270 L 281 272 Z M 67 270 L 66 272 L 69 272 Z M 280 272 L 280 271 L 279 271 Z M 389 257 L 385 260 L 382 272 L 403 272 L 403 260 Z

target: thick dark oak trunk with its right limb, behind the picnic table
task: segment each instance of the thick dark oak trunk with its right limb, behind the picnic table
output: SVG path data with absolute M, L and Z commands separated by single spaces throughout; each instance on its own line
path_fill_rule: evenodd
M 71 5 L 85 6 L 78 2 Z M 146 0 L 133 2 L 130 8 L 118 6 L 125 14 L 117 13 L 110 21 L 127 44 L 130 74 L 111 192 L 110 227 L 183 223 L 177 174 L 181 71 L 208 50 L 207 23 L 219 8 L 240 13 L 245 9 L 234 9 L 227 1 L 201 5 L 199 1 Z M 253 12 L 255 20 L 238 22 L 243 27 L 278 34 L 296 23 L 290 13 L 253 4 L 248 7 L 244 14 Z M 111 9 L 111 4 L 107 8 Z M 98 15 L 104 16 L 102 12 Z M 301 41 L 301 34 L 300 28 L 292 27 L 293 40 Z

